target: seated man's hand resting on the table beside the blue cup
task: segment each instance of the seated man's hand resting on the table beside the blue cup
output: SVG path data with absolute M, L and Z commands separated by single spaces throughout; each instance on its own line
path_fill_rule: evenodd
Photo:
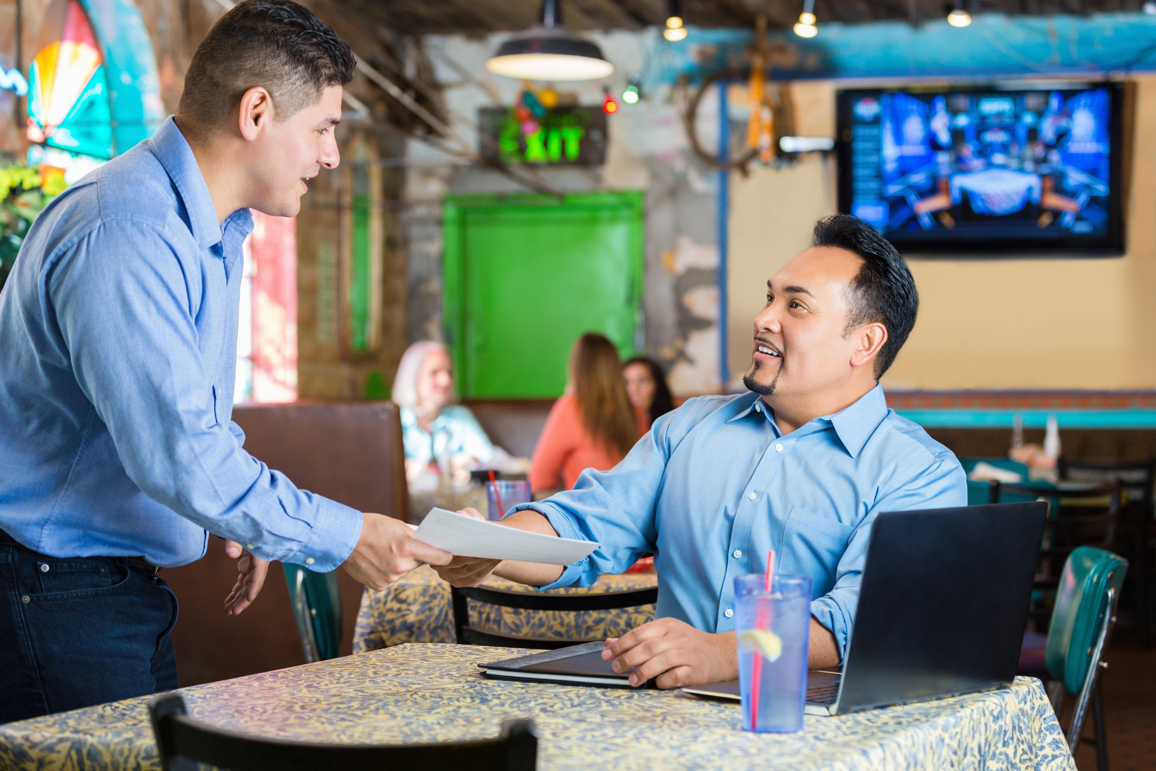
M 630 684 L 636 688 L 652 677 L 666 689 L 739 676 L 734 632 L 712 635 L 675 618 L 659 618 L 606 640 L 602 658 L 614 659 L 615 672 L 637 667 L 630 675 Z

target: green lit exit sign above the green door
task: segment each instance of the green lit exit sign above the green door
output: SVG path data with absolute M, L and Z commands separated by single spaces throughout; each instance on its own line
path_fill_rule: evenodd
M 477 111 L 479 151 L 496 163 L 596 166 L 606 162 L 602 108 L 550 110 L 519 121 L 513 108 Z

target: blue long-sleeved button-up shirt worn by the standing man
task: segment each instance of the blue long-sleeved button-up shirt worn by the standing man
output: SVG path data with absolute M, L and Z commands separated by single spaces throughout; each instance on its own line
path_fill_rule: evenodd
M 0 528 L 54 557 L 180 565 L 206 531 L 327 571 L 354 509 L 242 448 L 242 243 L 172 119 L 37 217 L 0 292 Z

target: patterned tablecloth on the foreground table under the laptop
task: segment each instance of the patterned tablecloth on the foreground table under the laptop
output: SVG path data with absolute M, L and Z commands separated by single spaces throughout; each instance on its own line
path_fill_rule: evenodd
M 1038 680 L 999 691 L 751 734 L 739 706 L 672 691 L 486 680 L 476 663 L 524 653 L 402 645 L 183 689 L 191 717 L 302 741 L 433 742 L 494 736 L 533 718 L 553 769 L 1035 769 L 1075 765 Z M 0 768 L 158 769 L 146 697 L 0 726 Z

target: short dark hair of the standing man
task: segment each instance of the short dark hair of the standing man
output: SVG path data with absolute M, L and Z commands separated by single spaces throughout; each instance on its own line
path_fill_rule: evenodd
M 290 0 L 244 0 L 221 16 L 197 46 L 177 116 L 183 127 L 223 127 L 245 91 L 264 87 L 276 120 L 317 104 L 329 86 L 344 86 L 357 60 L 344 40 Z

